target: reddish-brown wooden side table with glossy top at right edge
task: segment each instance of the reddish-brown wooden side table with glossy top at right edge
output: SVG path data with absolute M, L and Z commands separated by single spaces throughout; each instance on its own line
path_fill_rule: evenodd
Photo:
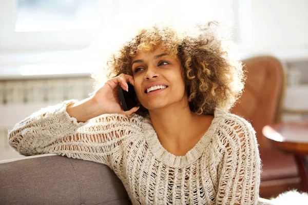
M 308 192 L 308 120 L 267 125 L 262 133 L 271 147 L 295 155 L 301 190 Z

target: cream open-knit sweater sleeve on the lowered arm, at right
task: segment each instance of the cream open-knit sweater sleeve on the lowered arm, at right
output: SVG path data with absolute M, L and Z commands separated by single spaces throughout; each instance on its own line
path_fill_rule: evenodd
M 222 124 L 217 204 L 257 204 L 260 156 L 255 130 L 245 119 L 233 114 Z

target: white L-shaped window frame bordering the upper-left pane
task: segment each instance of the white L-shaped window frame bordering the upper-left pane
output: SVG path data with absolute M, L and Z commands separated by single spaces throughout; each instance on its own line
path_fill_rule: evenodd
M 1 51 L 50 51 L 79 49 L 91 43 L 91 30 L 16 32 L 17 0 L 0 7 Z

